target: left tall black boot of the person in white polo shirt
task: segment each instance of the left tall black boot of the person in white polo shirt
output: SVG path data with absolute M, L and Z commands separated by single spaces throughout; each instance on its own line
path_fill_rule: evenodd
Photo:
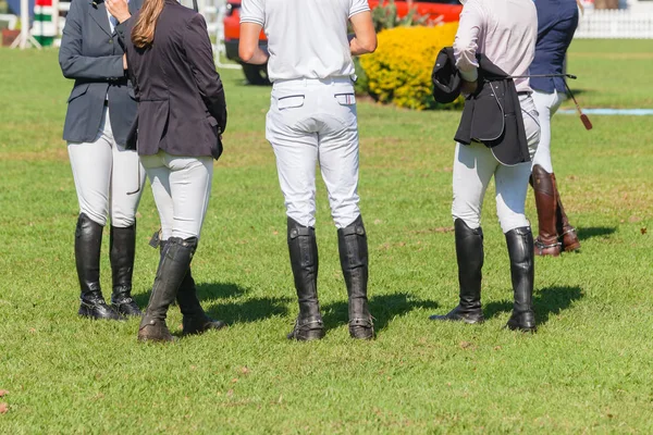
M 299 301 L 299 315 L 288 339 L 307 341 L 324 336 L 318 301 L 318 244 L 316 229 L 287 219 L 288 251 Z

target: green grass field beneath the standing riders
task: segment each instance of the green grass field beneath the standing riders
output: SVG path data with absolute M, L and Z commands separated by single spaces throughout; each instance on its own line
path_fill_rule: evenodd
M 652 52 L 653 41 L 576 41 L 568 71 L 580 77 L 581 104 L 652 108 Z M 297 308 L 263 136 L 269 89 L 243 86 L 238 72 L 223 79 L 230 125 L 194 274 L 205 309 L 230 327 L 141 345 L 137 320 L 76 315 L 77 200 L 61 140 L 72 84 L 56 51 L 0 50 L 0 389 L 9 391 L 0 433 L 653 432 L 650 116 L 593 116 L 591 132 L 578 116 L 555 117 L 554 165 L 582 251 L 537 259 L 540 331 L 522 335 L 502 328 L 512 290 L 493 195 L 483 211 L 488 322 L 428 321 L 457 303 L 449 208 L 458 114 L 361 103 L 359 191 L 378 339 L 348 338 L 320 184 L 328 334 L 297 344 L 285 339 Z M 534 221 L 530 192 L 528 213 Z M 157 228 L 148 188 L 135 274 L 141 306 Z M 102 271 L 108 296 L 108 254 Z M 178 332 L 176 307 L 169 319 Z

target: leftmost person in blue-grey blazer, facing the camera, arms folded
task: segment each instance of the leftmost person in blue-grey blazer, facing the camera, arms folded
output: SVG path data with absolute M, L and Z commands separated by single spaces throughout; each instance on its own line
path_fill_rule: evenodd
M 124 0 L 122 0 L 124 2 Z M 131 0 L 131 14 L 141 0 Z M 63 138 L 79 202 L 75 260 L 81 285 L 79 315 L 120 320 L 141 315 L 132 299 L 136 209 L 145 174 L 136 152 L 126 149 L 136 117 L 134 90 L 115 34 L 116 20 L 104 2 L 73 0 L 66 17 L 59 63 L 75 80 L 67 100 Z M 100 246 L 111 217 L 112 307 L 100 288 Z

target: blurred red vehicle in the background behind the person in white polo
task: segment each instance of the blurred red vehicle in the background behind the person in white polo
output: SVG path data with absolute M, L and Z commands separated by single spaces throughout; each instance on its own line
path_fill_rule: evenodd
M 328 1 L 328 0 L 325 0 Z M 383 0 L 369 0 L 370 8 L 375 8 L 379 3 L 383 4 Z M 412 3 L 410 5 L 409 3 Z M 463 5 L 458 0 L 420 0 L 405 1 L 395 0 L 397 14 L 404 16 L 408 13 L 409 8 L 416 8 L 420 16 L 429 16 L 432 22 L 456 22 L 460 16 Z M 252 85 L 267 85 L 268 72 L 266 65 L 249 65 L 243 64 L 238 59 L 238 38 L 241 32 L 241 0 L 229 0 L 226 3 L 226 15 L 224 17 L 224 45 L 226 48 L 226 58 L 236 61 L 243 65 L 245 77 Z M 266 35 L 261 32 L 260 45 L 266 46 Z

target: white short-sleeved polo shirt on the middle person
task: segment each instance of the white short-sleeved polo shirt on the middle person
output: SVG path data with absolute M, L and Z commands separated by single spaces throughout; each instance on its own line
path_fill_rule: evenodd
M 354 74 L 347 23 L 367 0 L 243 0 L 241 23 L 263 26 L 271 82 Z

